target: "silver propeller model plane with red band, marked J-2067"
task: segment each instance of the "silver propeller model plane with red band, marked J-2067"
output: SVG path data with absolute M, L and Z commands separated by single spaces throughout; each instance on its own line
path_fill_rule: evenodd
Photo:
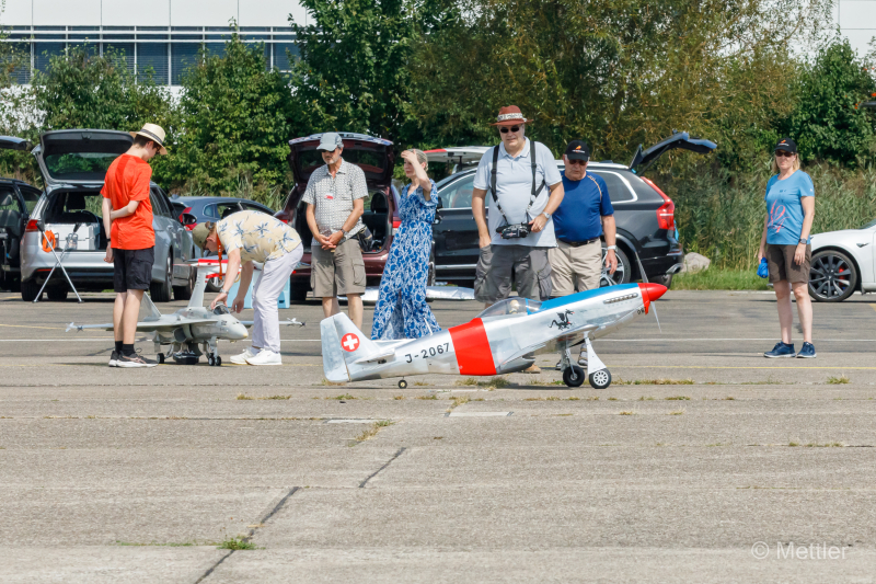
M 423 374 L 487 376 L 521 371 L 535 353 L 561 353 L 563 381 L 603 389 L 611 373 L 593 352 L 603 336 L 642 314 L 666 293 L 659 284 L 623 284 L 581 291 L 544 302 L 508 298 L 471 322 L 420 339 L 371 341 L 344 314 L 320 324 L 323 370 L 330 381 L 358 381 Z M 572 347 L 586 344 L 587 375 L 572 359 Z M 400 388 L 407 381 L 399 381 Z

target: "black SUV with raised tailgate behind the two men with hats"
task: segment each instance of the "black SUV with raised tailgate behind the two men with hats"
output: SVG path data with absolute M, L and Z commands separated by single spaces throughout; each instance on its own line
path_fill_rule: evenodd
M 618 270 L 613 275 L 602 272 L 601 286 L 626 284 L 642 279 L 634 254 L 638 254 L 648 282 L 665 286 L 681 268 L 683 253 L 675 224 L 676 205 L 648 179 L 639 176 L 666 151 L 675 148 L 707 153 L 714 142 L 693 138 L 687 131 L 675 133 L 658 145 L 638 151 L 627 167 L 611 161 L 590 162 L 587 172 L 601 176 L 609 187 L 614 220 L 618 226 Z M 427 152 L 429 160 L 457 162 L 474 167 L 457 172 L 437 184 L 442 208 L 436 213 L 435 239 L 436 278 L 471 286 L 479 257 L 477 226 L 472 216 L 474 173 L 485 147 L 447 148 Z M 563 161 L 557 161 L 563 172 Z M 604 242 L 603 242 L 604 256 Z

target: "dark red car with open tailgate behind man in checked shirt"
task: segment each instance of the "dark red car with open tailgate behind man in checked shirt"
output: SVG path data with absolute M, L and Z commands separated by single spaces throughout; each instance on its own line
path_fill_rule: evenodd
M 362 222 L 371 230 L 373 249 L 364 251 L 365 275 L 368 286 L 378 286 L 383 275 L 383 267 L 390 254 L 390 245 L 395 230 L 401 225 L 399 218 L 399 193 L 392 186 L 392 172 L 395 153 L 392 142 L 364 134 L 342 133 L 344 140 L 344 160 L 356 164 L 365 171 L 368 184 L 368 197 L 365 199 Z M 291 225 L 304 244 L 304 256 L 300 267 L 291 276 L 291 299 L 302 302 L 310 290 L 310 244 L 313 234 L 307 220 L 307 204 L 301 201 L 308 187 L 308 180 L 313 172 L 325 164 L 316 151 L 322 134 L 289 141 L 289 165 L 292 168 L 296 185 L 286 198 L 283 210 L 275 214 L 278 219 Z

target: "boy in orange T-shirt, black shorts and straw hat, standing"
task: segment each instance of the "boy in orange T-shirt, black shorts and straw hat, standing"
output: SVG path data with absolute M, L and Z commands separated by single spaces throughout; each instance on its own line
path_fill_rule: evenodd
M 154 360 L 134 352 L 137 318 L 143 291 L 152 280 L 155 259 L 155 231 L 152 229 L 152 204 L 149 161 L 166 154 L 164 130 L 155 124 L 143 124 L 131 131 L 134 144 L 106 170 L 103 190 L 103 225 L 110 233 L 105 262 L 113 263 L 113 328 L 116 346 L 110 367 L 154 367 Z

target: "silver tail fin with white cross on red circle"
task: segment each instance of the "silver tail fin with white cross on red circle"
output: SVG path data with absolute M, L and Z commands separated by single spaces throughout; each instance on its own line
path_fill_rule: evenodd
M 349 381 L 349 365 L 384 353 L 343 313 L 320 322 L 320 336 L 323 373 L 330 381 Z

